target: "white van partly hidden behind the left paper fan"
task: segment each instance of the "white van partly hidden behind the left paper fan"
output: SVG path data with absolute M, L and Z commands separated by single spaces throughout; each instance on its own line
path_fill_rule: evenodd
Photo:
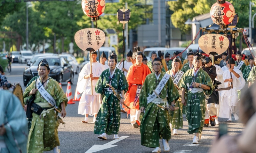
M 100 47 L 100 55 L 102 53 L 105 53 L 108 59 L 108 56 L 111 55 L 113 52 L 116 54 L 116 50 L 114 47 Z M 98 50 L 97 50 L 97 54 Z M 84 67 L 85 64 L 90 62 L 89 56 L 90 54 L 88 53 L 86 56 L 84 56 L 84 62 L 82 63 L 82 66 Z M 99 61 L 99 55 L 97 56 L 97 61 Z M 118 61 L 118 60 L 117 60 Z M 105 62 L 106 65 L 108 65 L 108 60 Z

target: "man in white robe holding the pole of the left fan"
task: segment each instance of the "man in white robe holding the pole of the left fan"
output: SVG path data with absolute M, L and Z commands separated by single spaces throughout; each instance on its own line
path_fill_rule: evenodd
M 92 73 L 90 62 L 85 64 L 79 73 L 77 89 L 79 93 L 83 93 L 79 101 L 78 114 L 85 115 L 83 123 L 88 123 L 88 116 L 94 115 L 93 122 L 95 122 L 97 113 L 100 110 L 99 94 L 95 92 L 95 85 L 103 71 L 103 66 L 97 61 L 97 52 L 92 50 Z M 92 80 L 92 88 L 91 88 Z

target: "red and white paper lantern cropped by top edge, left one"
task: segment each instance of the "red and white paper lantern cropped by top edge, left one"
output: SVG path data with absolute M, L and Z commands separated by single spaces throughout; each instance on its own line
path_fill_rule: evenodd
M 92 21 L 98 20 L 105 10 L 105 0 L 82 0 L 84 14 L 91 17 Z

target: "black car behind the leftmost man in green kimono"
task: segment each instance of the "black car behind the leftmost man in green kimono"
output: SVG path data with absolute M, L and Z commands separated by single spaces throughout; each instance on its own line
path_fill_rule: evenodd
M 49 63 L 50 74 L 49 77 L 52 77 L 59 83 L 62 82 L 70 82 L 70 84 L 74 83 L 74 70 L 72 66 L 68 63 L 68 61 L 59 56 L 51 56 L 51 57 L 39 57 L 35 62 L 31 63 L 31 66 L 23 72 L 23 83 L 24 86 L 28 84 L 28 82 L 32 79 L 32 77 L 38 76 L 37 65 L 38 63 L 46 59 Z

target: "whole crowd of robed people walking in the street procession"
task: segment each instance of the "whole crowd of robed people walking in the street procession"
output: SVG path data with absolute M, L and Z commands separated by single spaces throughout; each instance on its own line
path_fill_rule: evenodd
M 84 65 L 77 82 L 79 93 L 83 93 L 78 106 L 78 113 L 85 115 L 82 122 L 89 123 L 92 115 L 94 134 L 99 139 L 106 140 L 107 135 L 118 139 L 121 112 L 130 114 L 131 125 L 140 128 L 141 145 L 154 148 L 155 153 L 161 152 L 159 139 L 163 150 L 170 150 L 168 141 L 172 131 L 178 135 L 183 128 L 183 114 L 188 121 L 187 132 L 194 134 L 194 144 L 200 141 L 203 128 L 220 124 L 218 117 L 232 121 L 233 114 L 238 120 L 240 93 L 245 86 L 253 86 L 256 77 L 256 57 L 243 61 L 239 51 L 236 61 L 224 52 L 218 66 L 211 56 L 193 52 L 187 53 L 187 59 L 180 52 L 173 55 L 178 55 L 175 58 L 152 52 L 148 61 L 136 47 L 118 63 L 114 53 L 107 57 L 103 52 L 98 62 L 97 52 L 87 50 L 92 52 L 92 65 Z M 10 99 L 9 103 L 0 103 L 0 153 L 60 152 L 58 126 L 64 123 L 60 116 L 66 116 L 68 98 L 59 83 L 48 77 L 50 67 L 45 59 L 37 68 L 38 76 L 30 80 L 24 92 L 27 121 L 22 106 L 17 105 L 19 100 L 0 90 L 1 101 Z M 0 87 L 7 83 L 0 66 Z

